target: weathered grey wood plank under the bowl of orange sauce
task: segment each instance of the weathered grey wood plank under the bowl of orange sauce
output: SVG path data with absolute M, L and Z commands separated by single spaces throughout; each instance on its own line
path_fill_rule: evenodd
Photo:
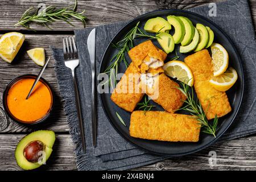
M 32 73 L 37 75 L 40 71 L 40 67 L 38 68 L 31 68 L 31 67 L 25 67 L 25 68 L 2 68 L 0 67 L 0 133 L 19 133 L 19 132 L 27 132 L 32 131 L 36 129 L 37 127 L 29 127 L 20 125 L 14 121 L 12 121 L 10 118 L 7 117 L 5 112 L 3 111 L 2 107 L 2 93 L 5 89 L 5 86 L 7 83 L 13 79 L 14 77 L 18 75 L 24 75 L 27 73 Z M 49 82 L 49 84 L 52 86 L 53 92 L 55 93 L 55 107 L 54 111 L 52 112 L 51 117 L 47 119 L 46 122 L 42 123 L 42 125 L 38 126 L 42 129 L 51 129 L 53 131 L 59 131 L 59 132 L 68 132 L 68 125 L 67 120 L 65 118 L 65 114 L 63 111 L 63 104 L 64 101 L 60 97 L 59 88 L 57 85 L 55 72 L 53 68 L 47 68 L 44 73 L 43 77 L 46 78 L 46 80 Z

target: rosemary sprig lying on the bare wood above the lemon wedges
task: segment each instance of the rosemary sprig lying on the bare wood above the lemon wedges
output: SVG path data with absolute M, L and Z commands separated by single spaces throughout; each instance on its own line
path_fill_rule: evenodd
M 48 23 L 59 22 L 59 21 L 64 21 L 74 26 L 71 23 L 71 20 L 72 20 L 71 18 L 80 20 L 82 24 L 84 24 L 85 26 L 86 16 L 83 15 L 85 13 L 85 10 L 79 13 L 76 11 L 76 9 L 77 9 L 77 0 L 75 0 L 74 6 L 68 6 L 62 9 L 56 9 L 56 7 L 54 6 L 48 6 L 46 7 L 46 9 L 39 12 L 40 8 L 34 11 L 34 8 L 30 7 L 23 13 L 21 18 L 19 19 L 19 22 L 16 23 L 14 26 L 21 25 L 23 27 L 31 29 L 30 23 L 35 22 L 40 24 L 41 26 L 50 28 L 48 26 Z

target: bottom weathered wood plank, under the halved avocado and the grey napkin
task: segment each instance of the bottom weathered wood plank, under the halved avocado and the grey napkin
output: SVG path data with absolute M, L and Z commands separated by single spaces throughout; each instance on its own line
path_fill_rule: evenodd
M 1 134 L 0 170 L 20 170 L 14 158 L 15 146 L 24 135 Z M 209 165 L 210 151 L 215 151 L 216 165 Z M 56 135 L 56 142 L 46 170 L 75 170 L 73 144 L 69 135 Z M 164 160 L 133 170 L 255 170 L 256 136 L 214 144 L 193 155 Z

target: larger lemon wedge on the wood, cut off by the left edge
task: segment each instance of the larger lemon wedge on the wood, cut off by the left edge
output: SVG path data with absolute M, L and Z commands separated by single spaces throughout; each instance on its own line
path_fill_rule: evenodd
M 7 63 L 11 63 L 25 40 L 25 36 L 19 32 L 9 32 L 0 38 L 0 57 Z

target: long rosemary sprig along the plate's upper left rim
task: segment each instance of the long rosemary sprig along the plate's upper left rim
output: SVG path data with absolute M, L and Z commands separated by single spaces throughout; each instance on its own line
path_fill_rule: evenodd
M 115 44 L 112 44 L 113 47 L 118 49 L 118 53 L 112 57 L 112 59 L 110 60 L 110 63 L 112 64 L 110 64 L 109 67 L 104 71 L 104 73 L 109 74 L 108 82 L 112 88 L 114 88 L 114 86 L 117 84 L 116 77 L 118 74 L 119 64 L 123 62 L 125 63 L 126 67 L 128 67 L 129 65 L 126 60 L 125 53 L 127 53 L 130 50 L 130 48 L 134 47 L 133 40 L 139 37 L 146 37 L 149 39 L 158 38 L 157 36 L 151 36 L 146 34 L 138 27 L 138 25 L 139 22 L 136 24 L 135 27 L 133 27 L 129 32 L 127 32 L 127 34 L 123 37 L 122 40 Z

